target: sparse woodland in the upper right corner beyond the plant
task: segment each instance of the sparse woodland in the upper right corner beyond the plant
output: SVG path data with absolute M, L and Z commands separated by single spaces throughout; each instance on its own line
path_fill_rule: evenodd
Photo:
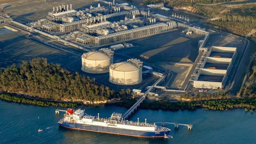
M 187 11 L 198 13 L 211 19 L 208 23 L 217 26 L 221 30 L 227 30 L 238 35 L 256 37 L 256 5 L 244 4 L 218 4 L 230 2 L 230 0 L 143 0 L 141 5 L 163 2 L 169 8 L 186 7 Z M 203 4 L 210 4 L 204 6 Z

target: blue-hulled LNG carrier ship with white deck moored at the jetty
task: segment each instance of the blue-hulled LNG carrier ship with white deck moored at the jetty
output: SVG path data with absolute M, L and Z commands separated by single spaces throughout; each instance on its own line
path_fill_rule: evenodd
M 85 113 L 85 110 L 68 109 L 64 118 L 58 124 L 70 129 L 79 129 L 100 133 L 110 133 L 116 135 L 126 135 L 133 137 L 167 137 L 170 129 L 156 124 L 145 122 L 133 122 L 122 119 L 121 113 L 113 113 L 110 118 L 100 118 Z

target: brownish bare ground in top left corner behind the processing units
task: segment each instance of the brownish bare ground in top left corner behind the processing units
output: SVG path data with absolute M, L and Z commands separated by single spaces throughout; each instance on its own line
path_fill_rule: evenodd
M 52 7 L 59 4 L 72 4 L 72 9 L 97 6 L 97 3 L 85 0 L 47 0 L 46 2 L 45 0 L 17 0 L 8 4 L 10 6 L 3 10 L 4 13 L 8 13 L 14 20 L 22 23 L 45 18 L 48 12 L 52 11 Z

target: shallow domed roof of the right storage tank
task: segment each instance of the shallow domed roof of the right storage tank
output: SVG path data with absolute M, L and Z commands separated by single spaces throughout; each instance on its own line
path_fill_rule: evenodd
M 121 72 L 132 72 L 139 69 L 136 65 L 128 62 L 113 63 L 110 68 Z

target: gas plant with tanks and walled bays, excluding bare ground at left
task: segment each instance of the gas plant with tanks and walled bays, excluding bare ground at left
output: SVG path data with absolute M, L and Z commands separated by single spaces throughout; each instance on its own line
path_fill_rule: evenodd
M 10 17 L 2 22 L 44 37 L 44 42 L 33 38 L 41 44 L 78 56 L 62 65 L 110 89 L 148 90 L 153 96 L 230 85 L 239 46 L 216 44 L 210 31 L 193 25 L 193 18 L 173 13 L 163 3 L 143 8 L 88 1 L 83 7 L 76 2 L 51 5 L 43 19 L 26 24 Z M 208 41 L 225 47 L 206 46 Z

